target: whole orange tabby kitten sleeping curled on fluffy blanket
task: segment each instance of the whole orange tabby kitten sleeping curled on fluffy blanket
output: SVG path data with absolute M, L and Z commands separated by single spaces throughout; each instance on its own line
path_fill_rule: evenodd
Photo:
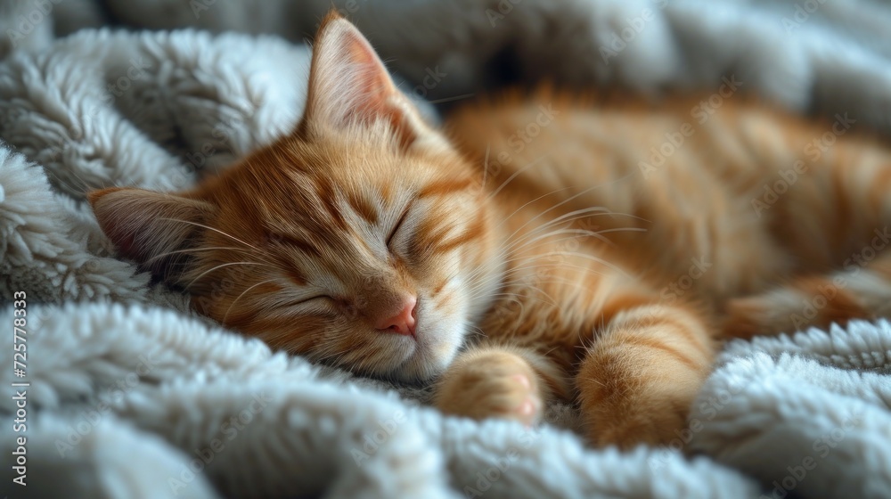
M 121 256 L 274 348 L 664 443 L 719 339 L 888 313 L 891 154 L 745 100 L 514 94 L 438 131 L 331 16 L 291 135 L 190 192 L 89 200 Z

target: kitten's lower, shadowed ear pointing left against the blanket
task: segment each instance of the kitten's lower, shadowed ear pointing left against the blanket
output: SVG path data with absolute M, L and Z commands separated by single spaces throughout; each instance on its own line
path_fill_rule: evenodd
M 180 250 L 192 244 L 214 212 L 201 200 L 143 189 L 112 187 L 90 192 L 87 199 L 120 255 L 157 275 L 185 257 Z

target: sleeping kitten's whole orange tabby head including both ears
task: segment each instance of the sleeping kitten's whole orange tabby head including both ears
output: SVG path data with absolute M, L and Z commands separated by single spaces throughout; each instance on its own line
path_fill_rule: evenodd
M 90 200 L 119 251 L 200 312 L 359 372 L 442 371 L 497 285 L 473 168 L 345 20 L 323 26 L 293 135 L 193 192 Z

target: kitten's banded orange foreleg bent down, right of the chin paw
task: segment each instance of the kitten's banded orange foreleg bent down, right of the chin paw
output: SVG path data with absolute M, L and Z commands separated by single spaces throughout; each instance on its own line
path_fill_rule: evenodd
M 588 348 L 576 375 L 596 446 L 666 445 L 686 425 L 715 356 L 707 321 L 692 307 L 619 313 Z

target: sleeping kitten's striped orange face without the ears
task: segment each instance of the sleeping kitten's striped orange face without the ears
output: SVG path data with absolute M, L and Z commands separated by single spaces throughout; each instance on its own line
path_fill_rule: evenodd
M 472 311 L 481 193 L 454 155 L 404 151 L 379 133 L 261 152 L 209 186 L 208 225 L 223 233 L 205 231 L 201 246 L 234 249 L 194 255 L 180 282 L 196 307 L 363 372 L 421 379 L 444 368 Z M 228 267 L 210 271 L 218 265 Z M 231 290 L 212 299 L 226 275 Z

